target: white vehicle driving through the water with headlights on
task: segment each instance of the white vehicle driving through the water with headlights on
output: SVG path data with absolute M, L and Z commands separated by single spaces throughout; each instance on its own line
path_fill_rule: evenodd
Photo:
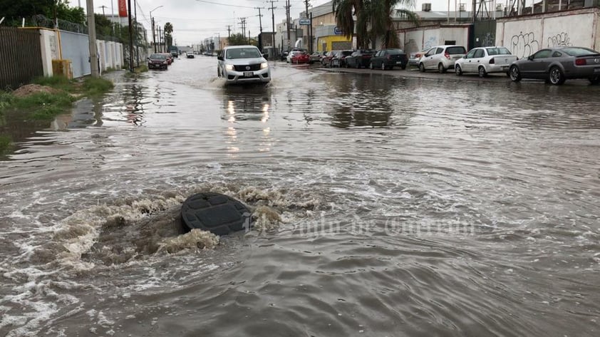
M 227 83 L 269 83 L 271 68 L 256 46 L 227 46 L 217 56 L 217 75 Z

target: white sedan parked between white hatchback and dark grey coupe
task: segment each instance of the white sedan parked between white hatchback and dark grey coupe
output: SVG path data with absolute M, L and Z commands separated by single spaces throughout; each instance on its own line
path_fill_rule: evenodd
M 507 73 L 510 63 L 517 61 L 505 47 L 477 47 L 472 48 L 467 55 L 459 58 L 454 63 L 456 75 L 462 73 L 478 73 L 485 77 L 488 73 Z

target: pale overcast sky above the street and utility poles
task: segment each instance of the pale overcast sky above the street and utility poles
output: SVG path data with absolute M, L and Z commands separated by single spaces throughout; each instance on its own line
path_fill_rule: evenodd
M 127 1 L 127 0 L 125 0 Z M 130 0 L 133 6 L 134 0 Z M 312 6 L 325 4 L 329 0 L 311 0 Z M 462 2 L 470 2 L 461 0 Z M 272 31 L 271 11 L 268 9 L 271 2 L 267 0 L 135 0 L 138 10 L 138 21 L 143 24 L 150 33 L 150 11 L 158 6 L 159 9 L 152 11 L 155 24 L 164 26 L 167 22 L 173 25 L 173 37 L 178 46 L 189 46 L 200 43 L 210 36 L 227 36 L 227 26 L 232 33 L 242 33 L 239 18 L 247 18 L 246 32 L 250 31 L 252 36 L 259 33 L 259 10 L 262 7 L 263 31 Z M 448 8 L 448 0 L 417 0 L 415 11 L 420 11 L 423 2 L 430 2 L 434 11 L 445 11 Z M 451 10 L 454 10 L 455 0 L 450 1 Z M 71 0 L 73 6 L 86 8 L 86 0 Z M 285 0 L 274 1 L 276 7 L 275 25 L 285 19 Z M 105 14 L 111 13 L 111 8 L 118 14 L 118 0 L 94 0 L 95 13 L 102 14 L 102 6 L 105 6 Z M 305 10 L 304 0 L 290 0 L 291 18 L 297 18 L 301 11 Z M 467 4 L 467 8 L 470 6 Z

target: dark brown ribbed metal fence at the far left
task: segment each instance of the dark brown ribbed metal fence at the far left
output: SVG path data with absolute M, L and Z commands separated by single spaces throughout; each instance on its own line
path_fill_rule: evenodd
M 0 27 L 0 90 L 16 89 L 43 76 L 38 29 Z

